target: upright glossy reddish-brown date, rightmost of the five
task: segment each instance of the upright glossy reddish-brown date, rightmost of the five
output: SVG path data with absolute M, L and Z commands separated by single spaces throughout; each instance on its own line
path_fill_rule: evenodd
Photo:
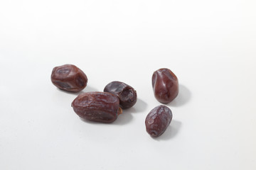
M 152 76 L 154 96 L 161 103 L 170 103 L 178 95 L 178 79 L 170 69 L 158 69 Z

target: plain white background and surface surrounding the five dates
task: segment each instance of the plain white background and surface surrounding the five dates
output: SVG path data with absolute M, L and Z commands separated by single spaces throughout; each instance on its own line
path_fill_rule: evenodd
M 0 1 L 0 169 L 256 169 L 255 0 Z M 82 91 L 137 90 L 112 124 L 78 118 L 50 81 L 75 64 Z M 151 75 L 180 93 L 158 138 Z

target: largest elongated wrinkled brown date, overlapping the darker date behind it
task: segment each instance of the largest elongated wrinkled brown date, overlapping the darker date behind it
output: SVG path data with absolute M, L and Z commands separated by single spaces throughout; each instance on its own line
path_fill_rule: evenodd
M 117 96 L 106 92 L 80 94 L 71 106 L 81 118 L 102 123 L 112 123 L 122 113 Z

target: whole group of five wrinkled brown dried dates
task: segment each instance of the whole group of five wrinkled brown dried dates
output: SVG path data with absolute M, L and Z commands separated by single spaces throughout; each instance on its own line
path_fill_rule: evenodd
M 87 86 L 87 76 L 73 64 L 54 67 L 51 81 L 64 91 L 78 92 Z M 152 76 L 154 96 L 161 103 L 170 103 L 178 95 L 178 79 L 170 69 L 158 69 Z M 112 123 L 122 113 L 137 102 L 137 92 L 127 84 L 112 81 L 104 92 L 94 91 L 78 95 L 71 106 L 75 113 L 86 120 Z M 171 110 L 160 105 L 146 116 L 146 132 L 159 137 L 171 123 Z

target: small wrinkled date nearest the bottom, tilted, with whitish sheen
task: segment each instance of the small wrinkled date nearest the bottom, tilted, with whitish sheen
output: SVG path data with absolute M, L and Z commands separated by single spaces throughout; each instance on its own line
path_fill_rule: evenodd
M 172 113 L 168 107 L 164 105 L 157 106 L 146 116 L 146 132 L 151 137 L 159 137 L 168 128 L 171 119 Z

